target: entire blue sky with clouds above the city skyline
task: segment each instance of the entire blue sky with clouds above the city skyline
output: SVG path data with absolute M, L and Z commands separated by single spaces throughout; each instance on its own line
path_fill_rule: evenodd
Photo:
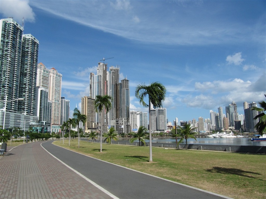
M 265 1 L 0 1 L 39 40 L 39 62 L 63 75 L 70 110 L 89 96 L 89 73 L 103 58 L 130 80 L 130 110 L 146 111 L 138 84 L 167 88 L 173 121 L 210 118 L 235 101 L 265 100 Z M 148 102 L 147 102 L 148 103 Z

